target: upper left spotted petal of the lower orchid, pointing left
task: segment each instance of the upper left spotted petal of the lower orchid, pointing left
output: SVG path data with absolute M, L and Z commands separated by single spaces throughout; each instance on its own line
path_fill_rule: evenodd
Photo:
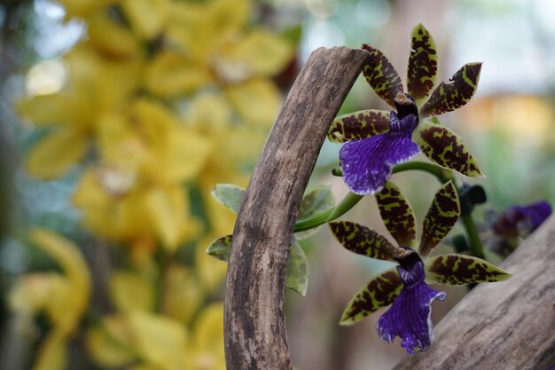
M 349 221 L 331 222 L 330 228 L 340 244 L 353 253 L 386 261 L 395 261 L 397 249 L 384 236 L 362 224 Z

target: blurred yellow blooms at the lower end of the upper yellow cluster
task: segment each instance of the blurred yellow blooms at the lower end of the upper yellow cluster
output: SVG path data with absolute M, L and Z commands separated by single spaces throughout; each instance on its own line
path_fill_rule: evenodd
M 106 187 L 102 169 L 85 172 L 74 193 L 74 203 L 85 210 L 83 222 L 106 238 L 129 246 L 157 237 L 175 250 L 199 232 L 180 185 L 134 185 L 127 193 Z

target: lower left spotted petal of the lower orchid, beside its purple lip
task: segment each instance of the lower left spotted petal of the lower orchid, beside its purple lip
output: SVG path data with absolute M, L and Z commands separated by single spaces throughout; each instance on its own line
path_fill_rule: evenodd
M 353 325 L 395 301 L 403 288 L 403 281 L 394 267 L 374 276 L 356 293 L 341 315 L 340 325 Z

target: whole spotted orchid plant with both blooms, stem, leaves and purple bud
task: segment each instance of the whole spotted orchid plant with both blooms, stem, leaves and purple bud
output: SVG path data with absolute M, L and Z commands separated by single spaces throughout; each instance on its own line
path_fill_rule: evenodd
M 378 320 L 378 335 L 384 342 L 393 342 L 399 336 L 403 348 L 413 354 L 430 347 L 434 339 L 430 304 L 446 296 L 426 283 L 472 287 L 475 283 L 501 281 L 511 276 L 482 259 L 481 234 L 477 232 L 472 212 L 474 206 L 486 201 L 486 193 L 479 185 L 457 186 L 452 171 L 465 177 L 481 177 L 482 173 L 462 139 L 443 127 L 437 118 L 465 106 L 473 97 L 481 63 L 466 64 L 449 82 L 436 86 L 439 59 L 434 39 L 420 24 L 411 35 L 405 91 L 400 76 L 381 51 L 366 44 L 363 50 L 368 52 L 363 65 L 366 81 L 395 110 L 361 110 L 340 115 L 332 122 L 328 138 L 342 144 L 340 170 L 333 173 L 343 177 L 350 193 L 335 206 L 324 188 L 305 195 L 294 227 L 286 285 L 301 294 L 306 292 L 309 268 L 296 240 L 317 226 L 329 224 L 332 234 L 349 251 L 397 263 L 396 267 L 372 277 L 356 293 L 340 324 L 354 324 L 391 304 Z M 431 163 L 409 161 L 419 153 L 426 155 Z M 409 201 L 389 180 L 393 173 L 408 169 L 424 170 L 442 183 L 423 220 L 419 238 Z M 238 212 L 244 193 L 234 185 L 218 185 L 213 195 Z M 333 221 L 353 208 L 364 195 L 375 196 L 379 214 L 396 244 L 362 224 Z M 305 212 L 306 209 L 312 211 Z M 493 223 L 492 229 L 526 227 L 531 232 L 549 214 L 551 207 L 547 203 L 509 209 Z M 459 218 L 465 228 L 464 244 L 468 248 L 457 251 L 464 254 L 432 255 Z M 207 253 L 227 260 L 230 249 L 231 235 L 226 235 L 210 243 Z

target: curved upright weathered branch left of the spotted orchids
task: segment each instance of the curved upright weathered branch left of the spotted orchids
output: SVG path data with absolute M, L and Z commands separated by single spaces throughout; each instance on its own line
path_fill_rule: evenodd
M 238 213 L 228 264 L 228 370 L 292 368 L 284 297 L 293 226 L 326 132 L 366 56 L 346 47 L 314 51 L 262 150 Z

